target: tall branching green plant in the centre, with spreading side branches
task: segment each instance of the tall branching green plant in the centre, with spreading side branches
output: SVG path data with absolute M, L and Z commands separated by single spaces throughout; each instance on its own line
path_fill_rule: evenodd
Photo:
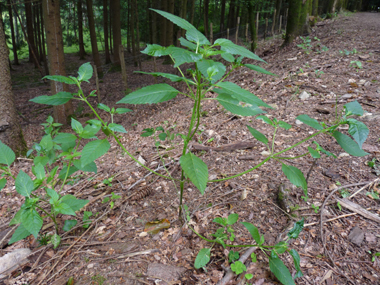
M 89 135 L 86 135 L 83 137 L 83 134 L 85 133 L 88 128 L 95 129 L 91 131 L 91 136 L 94 137 L 100 129 L 104 132 L 104 134 L 107 135 L 107 138 L 103 140 L 95 139 L 91 141 L 89 144 L 91 144 L 91 154 L 88 152 L 89 148 L 87 145 L 83 148 L 81 153 L 77 152 L 77 149 L 75 148 L 75 152 L 68 153 L 68 150 L 64 152 L 64 155 L 66 160 L 69 160 L 70 163 L 74 163 L 75 161 L 79 160 L 78 166 L 80 166 L 80 169 L 87 168 L 89 165 L 93 166 L 94 160 L 103 155 L 105 152 L 108 151 L 110 145 L 108 142 L 108 139 L 113 138 L 116 143 L 122 148 L 123 152 L 126 153 L 128 156 L 130 156 L 135 162 L 140 164 L 142 167 L 144 167 L 146 170 L 159 175 L 163 178 L 170 179 L 173 181 L 175 187 L 179 187 L 179 214 L 182 216 L 183 209 L 186 210 L 185 206 L 183 205 L 183 192 L 185 183 L 191 182 L 193 185 L 200 191 L 201 194 L 203 194 L 206 190 L 207 184 L 212 182 L 220 182 L 225 181 L 229 179 L 233 179 L 239 176 L 242 176 L 244 174 L 247 174 L 265 163 L 268 163 L 270 160 L 274 160 L 275 162 L 281 163 L 282 171 L 287 177 L 287 179 L 290 180 L 291 183 L 294 185 L 300 187 L 303 189 L 304 196 L 303 199 L 307 199 L 307 182 L 306 179 L 298 168 L 285 164 L 284 162 L 288 159 L 297 159 L 299 157 L 304 157 L 307 155 L 311 155 L 311 157 L 317 159 L 320 158 L 320 153 L 324 153 L 326 155 L 333 155 L 327 151 L 325 151 L 322 147 L 318 145 L 317 142 L 314 141 L 314 144 L 316 145 L 316 148 L 312 148 L 311 145 L 307 147 L 307 151 L 304 154 L 301 154 L 299 156 L 286 156 L 285 153 L 292 150 L 295 147 L 300 146 L 303 143 L 308 142 L 309 140 L 313 139 L 316 136 L 326 134 L 329 136 L 332 136 L 336 139 L 338 144 L 349 154 L 355 155 L 355 156 L 364 156 L 367 155 L 366 152 L 364 152 L 361 149 L 361 146 L 363 142 L 366 140 L 368 135 L 368 128 L 361 122 L 358 122 L 354 118 L 348 117 L 351 115 L 362 115 L 363 109 L 361 108 L 360 104 L 356 101 L 348 103 L 344 106 L 344 112 L 342 112 L 342 115 L 337 118 L 337 121 L 333 125 L 327 125 L 326 123 L 319 123 L 317 120 L 310 118 L 307 115 L 300 115 L 297 117 L 297 119 L 304 124 L 316 129 L 316 132 L 309 135 L 308 137 L 302 139 L 301 141 L 295 143 L 292 146 L 289 146 L 282 150 L 276 150 L 275 149 L 275 140 L 276 140 L 276 134 L 282 130 L 286 131 L 289 130 L 292 126 L 284 121 L 277 120 L 275 117 L 272 117 L 271 119 L 265 115 L 260 115 L 265 113 L 264 110 L 262 110 L 260 107 L 269 108 L 271 107 L 263 102 L 261 99 L 259 99 L 254 94 L 250 93 L 249 91 L 242 89 L 238 85 L 225 81 L 228 75 L 230 75 L 232 72 L 234 72 L 237 69 L 240 68 L 248 68 L 253 71 L 259 72 L 259 73 L 265 73 L 269 75 L 274 75 L 271 72 L 265 70 L 264 68 L 253 65 L 249 63 L 243 63 L 243 59 L 246 58 L 248 60 L 257 60 L 264 62 L 262 59 L 260 59 L 257 55 L 254 53 L 246 50 L 245 48 L 238 46 L 234 44 L 233 42 L 227 40 L 227 39 L 217 39 L 213 45 L 210 44 L 210 42 L 207 40 L 207 38 L 201 34 L 196 28 L 194 28 L 190 23 L 188 23 L 186 20 L 183 20 L 177 16 L 171 15 L 169 13 L 154 10 L 160 15 L 166 17 L 173 23 L 177 24 L 180 28 L 186 30 L 186 39 L 181 38 L 179 41 L 184 48 L 179 47 L 162 47 L 157 44 L 148 45 L 147 48 L 143 51 L 143 53 L 151 55 L 151 56 L 169 56 L 174 64 L 174 67 L 178 69 L 179 74 L 169 74 L 169 73 L 160 73 L 160 72 L 152 72 L 148 73 L 153 76 L 162 76 L 164 78 L 167 78 L 173 82 L 182 82 L 187 86 L 187 92 L 180 92 L 177 89 L 173 88 L 172 86 L 160 83 L 155 84 L 152 86 L 143 87 L 139 90 L 136 90 L 127 96 L 125 96 L 123 99 L 121 99 L 118 104 L 153 104 L 153 103 L 160 103 L 164 101 L 168 101 L 170 99 L 175 98 L 178 94 L 184 95 L 188 97 L 189 99 L 193 100 L 193 107 L 190 110 L 191 116 L 190 120 L 188 122 L 188 129 L 185 133 L 179 134 L 181 138 L 183 139 L 183 148 L 182 148 L 182 155 L 180 157 L 179 163 L 181 167 L 181 177 L 180 179 L 174 179 L 170 173 L 165 169 L 166 175 L 160 174 L 149 167 L 142 164 L 137 158 L 135 158 L 126 148 L 125 146 L 120 142 L 119 134 L 118 133 L 126 133 L 123 126 L 113 123 L 113 114 L 122 114 L 127 113 L 130 110 L 125 108 L 110 108 L 104 104 L 99 104 L 98 108 L 106 111 L 111 116 L 111 122 L 108 123 L 104 121 L 100 115 L 96 112 L 95 108 L 89 103 L 87 98 L 89 96 L 96 96 L 93 92 L 91 92 L 88 96 L 85 96 L 82 88 L 81 83 L 83 81 L 88 81 L 92 76 L 92 67 L 89 63 L 86 63 L 82 65 L 79 68 L 78 77 L 64 77 L 64 76 L 47 76 L 46 78 L 50 80 L 60 81 L 66 84 L 76 85 L 78 88 L 78 92 L 76 93 L 68 93 L 68 92 L 59 92 L 52 96 L 40 96 L 37 98 L 32 99 L 33 102 L 36 103 L 42 103 L 42 104 L 48 104 L 48 105 L 60 105 L 68 102 L 71 99 L 79 100 L 84 103 L 86 103 L 89 108 L 92 110 L 92 112 L 95 114 L 97 119 L 90 120 L 88 123 L 89 125 L 83 128 L 79 122 L 73 121 L 72 128 L 74 131 L 79 135 L 80 138 L 88 138 Z M 225 62 L 228 63 L 228 68 L 221 62 L 216 61 L 215 56 L 221 56 Z M 191 78 L 187 78 L 181 69 L 181 65 L 184 63 L 191 63 L 193 64 L 193 69 L 190 72 Z M 217 97 L 214 98 L 211 95 L 211 92 L 217 94 Z M 259 142 L 263 143 L 267 149 L 269 155 L 263 159 L 260 163 L 255 165 L 254 167 L 251 167 L 241 173 L 237 173 L 232 176 L 223 177 L 220 179 L 215 180 L 208 180 L 208 166 L 205 162 L 202 161 L 201 158 L 199 158 L 197 155 L 193 154 L 189 150 L 189 143 L 194 139 L 195 134 L 197 134 L 200 131 L 200 124 L 201 124 L 201 114 L 202 114 L 202 104 L 201 102 L 204 100 L 216 100 L 220 105 L 222 105 L 227 111 L 237 114 L 240 116 L 256 116 L 257 120 L 262 120 L 264 123 L 268 124 L 270 128 L 273 129 L 273 135 L 271 136 L 271 143 L 269 143 L 268 138 L 256 130 L 255 128 L 251 126 L 247 126 L 248 130 L 252 134 L 253 137 L 255 137 Z M 259 116 L 257 116 L 259 115 Z M 349 136 L 339 132 L 337 129 L 341 125 L 349 125 L 348 133 L 353 137 L 350 138 Z M 79 126 L 80 125 L 80 126 Z M 149 135 L 153 135 L 156 132 L 158 132 L 158 137 L 160 139 L 160 135 L 162 135 L 162 138 L 164 137 L 165 130 L 161 127 L 158 128 L 148 128 L 144 130 L 145 133 L 148 133 Z M 148 136 L 148 134 L 146 136 Z M 69 136 L 69 134 L 65 134 Z M 62 135 L 61 135 L 62 136 Z M 70 135 L 71 136 L 71 135 Z M 167 133 L 166 133 L 167 137 Z M 68 153 L 68 154 L 66 154 Z M 79 157 L 81 155 L 80 159 L 74 159 L 74 157 Z M 0 161 L 1 163 L 2 161 Z M 8 164 L 9 166 L 10 164 Z M 96 166 L 96 165 L 95 165 Z M 5 172 L 8 170 L 6 169 Z M 69 177 L 68 170 L 67 174 L 64 176 L 67 178 Z M 65 183 L 63 181 L 62 185 Z M 179 185 L 177 185 L 179 184 Z M 89 217 L 92 215 L 91 212 L 85 212 L 83 216 L 84 221 L 89 221 Z M 86 219 L 85 219 L 86 217 Z M 237 220 L 237 216 L 232 216 L 231 219 Z M 189 220 L 188 214 L 186 215 L 185 220 Z M 236 221 L 235 221 L 236 222 Z M 224 220 L 220 221 L 221 224 L 224 223 Z M 203 239 L 215 244 L 221 244 L 222 246 L 226 246 L 225 237 L 228 238 L 229 241 L 231 239 L 234 239 L 234 231 L 233 228 L 230 227 L 232 224 L 229 224 L 229 220 L 227 219 L 225 221 L 225 225 L 223 224 L 223 228 L 216 232 L 214 234 L 215 239 L 207 239 L 200 234 L 196 233 Z M 261 236 L 258 233 L 257 228 L 255 228 L 253 225 L 249 223 L 243 223 L 243 225 L 248 229 L 248 231 L 251 233 L 253 239 L 256 241 L 255 246 L 259 246 L 263 252 L 266 252 L 269 248 L 272 249 L 270 255 L 268 256 L 269 262 L 270 262 L 270 268 L 274 272 L 274 274 L 277 276 L 277 278 L 281 282 L 286 282 L 285 284 L 293 284 L 293 279 L 290 276 L 289 271 L 286 269 L 285 266 L 282 266 L 281 260 L 278 258 L 278 254 L 284 253 L 285 251 L 288 251 L 291 255 L 294 255 L 293 258 L 297 260 L 298 254 L 294 250 L 288 250 L 286 242 L 277 244 L 275 246 L 264 246 L 264 240 L 263 236 Z M 292 237 L 298 236 L 299 231 L 302 229 L 301 225 L 299 224 L 297 226 L 296 232 L 297 235 L 292 235 Z M 229 245 L 230 247 L 243 247 L 239 245 Z M 250 245 L 253 246 L 253 245 Z M 200 253 L 197 256 L 196 259 L 196 267 L 204 267 L 206 266 L 207 258 L 210 257 L 211 249 L 204 248 L 201 249 Z M 200 261 L 201 260 L 201 261 Z M 281 263 L 281 264 L 280 264 Z M 299 265 L 299 264 L 298 264 Z M 285 268 L 284 268 L 285 267 Z M 236 268 L 236 265 L 235 265 Z M 278 268 L 281 268 L 281 270 L 278 270 Z M 297 268 L 297 267 L 296 267 Z M 299 268 L 299 267 L 298 267 Z M 298 270 L 298 269 L 297 269 Z M 299 271 L 300 272 L 300 271 Z M 293 283 L 292 283 L 293 282 Z

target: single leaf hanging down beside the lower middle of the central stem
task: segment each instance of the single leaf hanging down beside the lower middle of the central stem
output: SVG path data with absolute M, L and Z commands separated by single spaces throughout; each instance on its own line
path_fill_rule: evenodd
M 181 164 L 181 167 L 187 177 L 190 178 L 191 182 L 193 182 L 195 187 L 197 187 L 203 195 L 206 190 L 208 180 L 208 169 L 206 163 L 191 152 L 183 155 L 180 158 L 179 163 Z

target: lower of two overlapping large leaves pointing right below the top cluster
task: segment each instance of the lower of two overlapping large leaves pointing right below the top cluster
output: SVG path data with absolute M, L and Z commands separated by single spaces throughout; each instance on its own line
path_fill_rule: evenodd
M 222 91 L 219 92 L 221 93 L 216 100 L 218 100 L 218 102 L 226 108 L 227 111 L 230 111 L 233 114 L 240 116 L 255 116 L 257 114 L 265 113 L 265 111 L 261 110 L 257 105 L 248 104 L 246 106 L 242 106 L 239 100 L 234 98 L 233 95 L 222 93 Z

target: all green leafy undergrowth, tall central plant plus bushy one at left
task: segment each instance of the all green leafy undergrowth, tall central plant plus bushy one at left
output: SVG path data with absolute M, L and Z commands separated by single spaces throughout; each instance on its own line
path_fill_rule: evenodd
M 212 249 L 221 245 L 223 248 L 259 248 L 269 260 L 269 267 L 274 275 L 283 284 L 294 284 L 294 280 L 284 265 L 279 255 L 288 253 L 292 256 L 296 274 L 294 278 L 302 276 L 300 270 L 300 257 L 294 249 L 290 249 L 289 240 L 298 237 L 303 228 L 303 220 L 297 222 L 294 228 L 288 233 L 285 240 L 280 241 L 275 245 L 265 245 L 264 236 L 261 235 L 253 224 L 248 222 L 241 222 L 252 236 L 253 242 L 251 244 L 236 244 L 235 243 L 235 230 L 233 228 L 238 221 L 238 214 L 233 213 L 228 218 L 215 218 L 213 221 L 221 227 L 210 237 L 203 236 L 196 232 L 191 226 L 190 220 L 192 219 L 191 211 L 186 205 L 183 205 L 183 192 L 186 183 L 192 183 L 201 194 L 207 191 L 207 186 L 210 183 L 217 183 L 242 176 L 249 173 L 260 166 L 273 161 L 280 163 L 281 169 L 285 177 L 295 186 L 303 191 L 303 199 L 308 199 L 308 186 L 307 181 L 302 171 L 292 165 L 286 163 L 288 159 L 297 159 L 300 157 L 311 156 L 314 159 L 321 158 L 321 154 L 334 156 L 334 154 L 324 150 L 315 139 L 322 135 L 331 136 L 336 139 L 338 144 L 350 155 L 364 156 L 367 153 L 362 150 L 362 144 L 366 140 L 369 130 L 360 121 L 357 121 L 354 116 L 363 115 L 363 109 L 356 101 L 348 103 L 344 106 L 344 110 L 337 112 L 334 122 L 318 122 L 317 120 L 309 117 L 308 115 L 299 115 L 297 119 L 306 125 L 315 129 L 315 131 L 295 143 L 294 145 L 285 149 L 278 150 L 276 148 L 276 134 L 280 128 L 289 130 L 292 126 L 275 117 L 269 118 L 264 115 L 266 111 L 264 108 L 270 109 L 271 107 L 264 101 L 259 99 L 254 94 L 241 88 L 240 86 L 226 81 L 228 76 L 235 70 L 240 68 L 248 68 L 259 73 L 274 75 L 265 70 L 259 65 L 245 63 L 248 61 L 264 62 L 254 53 L 238 46 L 227 39 L 218 39 L 214 43 L 200 33 L 189 22 L 181 19 L 172 14 L 154 10 L 160 15 L 164 16 L 174 24 L 178 25 L 181 29 L 186 31 L 186 39 L 181 38 L 180 47 L 162 47 L 157 44 L 148 45 L 143 53 L 161 57 L 168 56 L 173 61 L 174 67 L 178 69 L 180 76 L 169 73 L 152 72 L 148 73 L 153 76 L 161 76 L 173 82 L 183 82 L 187 86 L 187 92 L 180 92 L 174 87 L 166 83 L 155 84 L 143 87 L 136 90 L 123 99 L 118 104 L 157 104 L 174 99 L 178 94 L 188 97 L 193 101 L 193 107 L 189 112 L 191 113 L 188 121 L 188 129 L 186 133 L 175 134 L 172 130 L 164 130 L 161 126 L 148 126 L 144 130 L 142 136 L 151 136 L 158 133 L 158 139 L 155 138 L 156 146 L 159 141 L 173 140 L 175 136 L 180 136 L 183 140 L 183 148 L 181 150 L 181 158 L 179 164 L 181 167 L 180 178 L 174 178 L 169 171 L 166 174 L 160 174 L 149 167 L 142 164 L 136 157 L 134 157 L 120 141 L 120 136 L 127 133 L 122 125 L 113 122 L 114 115 L 120 115 L 130 112 L 127 108 L 114 108 L 104 104 L 98 104 L 97 108 L 104 110 L 110 114 L 111 121 L 105 121 L 96 108 L 93 107 L 88 101 L 88 97 L 96 96 L 95 90 L 88 96 L 82 91 L 81 84 L 88 82 L 92 77 L 93 70 L 89 63 L 83 64 L 78 71 L 77 77 L 65 77 L 60 75 L 46 76 L 47 79 L 59 81 L 65 84 L 76 85 L 78 92 L 59 92 L 52 96 L 40 96 L 32 99 L 31 101 L 47 105 L 61 105 L 69 100 L 80 100 L 87 104 L 93 111 L 96 119 L 87 121 L 83 126 L 80 122 L 71 119 L 71 127 L 75 134 L 62 133 L 59 131 L 59 124 L 53 122 L 49 117 L 45 127 L 45 135 L 40 143 L 35 144 L 29 155 L 33 154 L 32 173 L 34 178 L 30 177 L 27 173 L 20 170 L 17 175 L 13 174 L 11 169 L 12 163 L 15 160 L 14 153 L 9 147 L 0 143 L 0 164 L 2 169 L 2 176 L 10 177 L 15 180 L 16 191 L 25 197 L 25 203 L 21 206 L 15 217 L 12 219 L 10 225 L 18 224 L 18 228 L 11 238 L 10 243 L 19 241 L 29 235 L 38 237 L 43 225 L 43 218 L 49 217 L 55 224 L 55 234 L 51 237 L 50 242 L 57 247 L 60 244 L 60 236 L 58 234 L 58 224 L 56 222 L 57 215 L 72 215 L 84 207 L 88 200 L 77 199 L 73 195 L 64 195 L 62 189 L 67 184 L 77 171 L 96 172 L 97 166 L 95 160 L 104 155 L 110 149 L 109 140 L 113 139 L 123 150 L 125 154 L 130 156 L 134 161 L 144 167 L 146 170 L 161 176 L 162 178 L 169 179 L 173 182 L 175 188 L 179 188 L 179 215 L 187 223 L 188 227 L 200 238 L 211 244 L 210 247 L 203 248 L 195 259 L 195 268 L 206 268 L 207 263 L 210 261 Z M 305 43 L 304 49 L 308 49 Z M 181 69 L 184 63 L 193 64 L 193 68 L 187 71 Z M 190 75 L 190 76 L 188 76 Z M 215 97 L 214 94 L 217 94 Z M 255 116 L 256 120 L 262 120 L 268 125 L 268 128 L 273 130 L 271 137 L 267 137 L 254 128 L 254 124 L 247 125 L 249 132 L 260 143 L 267 147 L 267 156 L 260 163 L 251 167 L 241 173 L 225 177 L 222 179 L 209 180 L 208 166 L 196 154 L 189 150 L 189 144 L 194 139 L 194 135 L 199 131 L 202 120 L 202 101 L 216 100 L 227 111 L 240 115 L 240 116 Z M 348 125 L 348 136 L 343 134 L 338 129 L 342 125 Z M 99 131 L 102 131 L 106 138 L 98 139 L 96 136 Z M 79 149 L 80 143 L 86 141 L 85 146 Z M 307 151 L 299 156 L 288 156 L 286 153 L 301 144 L 307 145 Z M 175 162 L 172 158 L 166 158 Z M 165 159 L 161 157 L 163 165 L 165 166 Z M 0 180 L 0 188 L 6 184 L 6 178 Z M 37 191 L 42 190 L 42 191 Z M 111 207 L 113 200 L 118 199 L 119 196 L 115 195 L 110 200 Z M 46 207 L 48 206 L 48 207 Z M 91 212 L 85 212 L 86 221 L 92 215 Z M 63 227 L 64 231 L 70 230 L 77 224 L 76 220 L 66 220 Z M 88 222 L 85 224 L 88 227 Z M 229 263 L 231 269 L 236 273 L 243 273 L 246 269 L 244 263 L 239 261 L 239 252 L 229 251 Z M 256 261 L 256 255 L 251 255 L 252 261 Z M 249 274 L 246 275 L 247 279 L 252 278 Z

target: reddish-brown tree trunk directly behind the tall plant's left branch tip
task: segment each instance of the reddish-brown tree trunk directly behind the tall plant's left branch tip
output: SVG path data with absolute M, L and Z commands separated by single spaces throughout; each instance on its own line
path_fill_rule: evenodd
M 45 22 L 46 44 L 49 59 L 50 75 L 66 75 L 65 58 L 63 53 L 61 17 L 58 0 L 43 0 L 42 8 Z M 51 92 L 56 94 L 69 91 L 68 86 L 61 82 L 51 81 Z M 71 101 L 65 105 L 54 106 L 54 120 L 57 123 L 67 124 L 68 116 L 74 112 Z

